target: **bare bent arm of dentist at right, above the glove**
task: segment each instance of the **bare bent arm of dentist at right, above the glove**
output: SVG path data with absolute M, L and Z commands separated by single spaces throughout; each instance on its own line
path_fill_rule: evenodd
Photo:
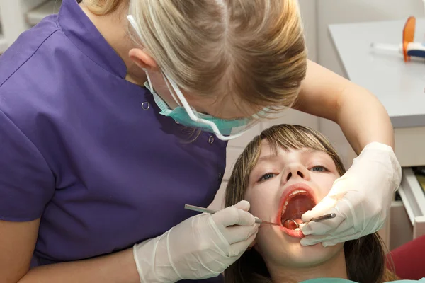
M 394 149 L 390 117 L 378 98 L 312 61 L 295 109 L 339 124 L 357 154 L 373 141 Z

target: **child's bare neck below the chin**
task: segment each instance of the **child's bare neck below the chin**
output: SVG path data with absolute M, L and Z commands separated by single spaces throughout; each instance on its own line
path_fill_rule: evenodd
M 341 249 L 339 253 L 326 262 L 312 267 L 283 267 L 273 266 L 270 263 L 267 264 L 267 267 L 271 279 L 275 283 L 288 282 L 288 280 L 302 282 L 324 277 L 348 279 L 344 249 Z

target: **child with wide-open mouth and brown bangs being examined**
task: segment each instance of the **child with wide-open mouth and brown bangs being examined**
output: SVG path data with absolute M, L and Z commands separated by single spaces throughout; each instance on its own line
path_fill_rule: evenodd
M 385 269 L 377 233 L 327 248 L 300 245 L 303 234 L 294 221 L 300 222 L 302 214 L 322 200 L 344 172 L 327 138 L 314 129 L 278 125 L 255 137 L 237 159 L 225 205 L 248 200 L 251 214 L 282 226 L 262 225 L 254 246 L 225 271 L 226 282 L 397 279 Z

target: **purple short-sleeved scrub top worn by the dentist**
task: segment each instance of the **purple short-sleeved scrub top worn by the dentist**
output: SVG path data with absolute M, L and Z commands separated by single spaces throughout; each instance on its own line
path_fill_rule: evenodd
M 0 56 L 0 219 L 41 218 L 32 266 L 159 236 L 220 187 L 227 143 L 192 141 L 126 72 L 76 0 Z

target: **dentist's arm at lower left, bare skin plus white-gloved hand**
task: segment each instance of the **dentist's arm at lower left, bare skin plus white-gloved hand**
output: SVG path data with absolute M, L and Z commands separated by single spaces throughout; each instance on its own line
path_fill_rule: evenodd
M 259 224 L 248 210 L 249 202 L 241 201 L 212 215 L 192 216 L 118 253 L 31 270 L 40 219 L 0 221 L 0 283 L 171 283 L 217 277 L 256 237 Z

